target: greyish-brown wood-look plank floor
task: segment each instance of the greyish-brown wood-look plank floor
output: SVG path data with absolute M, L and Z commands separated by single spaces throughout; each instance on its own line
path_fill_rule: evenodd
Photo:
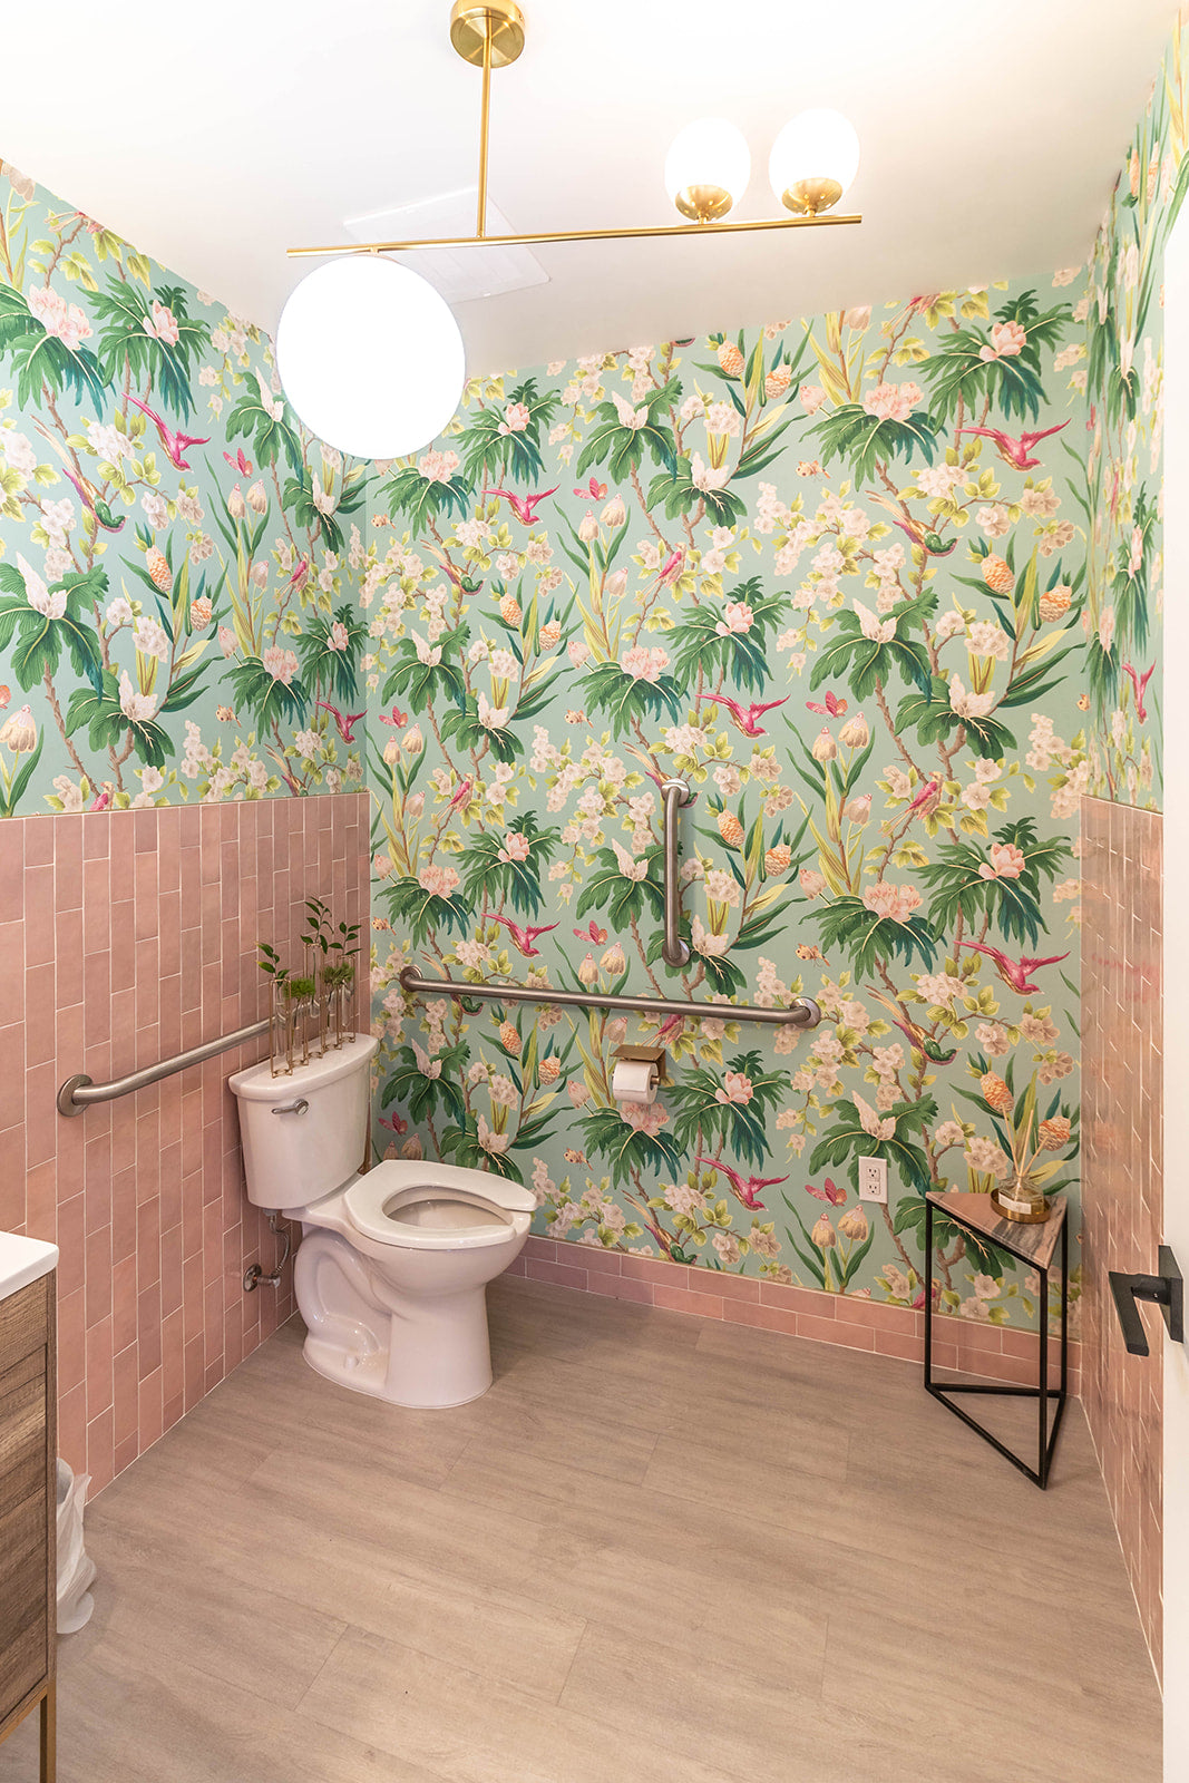
M 1077 1405 L 1037 1492 L 900 1362 L 526 1280 L 490 1321 L 453 1412 L 294 1323 L 89 1507 L 61 1783 L 1157 1783 Z

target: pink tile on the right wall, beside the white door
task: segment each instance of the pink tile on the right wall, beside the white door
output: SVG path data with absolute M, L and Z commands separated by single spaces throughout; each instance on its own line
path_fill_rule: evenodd
M 1162 820 L 1082 799 L 1082 850 L 1084 1400 L 1159 1678 L 1162 1344 L 1127 1353 L 1107 1269 L 1150 1273 L 1160 1243 Z

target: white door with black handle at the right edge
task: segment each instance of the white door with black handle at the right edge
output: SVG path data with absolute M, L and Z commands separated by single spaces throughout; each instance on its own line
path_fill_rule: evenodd
M 1189 212 L 1164 264 L 1164 1241 L 1189 1271 Z M 1155 1273 L 1157 1259 L 1143 1269 Z M 1164 1332 L 1152 1314 L 1148 1330 Z M 1189 1783 L 1189 1348 L 1164 1335 L 1164 1778 Z

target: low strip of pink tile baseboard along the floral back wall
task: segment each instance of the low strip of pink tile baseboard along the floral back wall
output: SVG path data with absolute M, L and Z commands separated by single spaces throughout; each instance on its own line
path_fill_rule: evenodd
M 786 1332 L 790 1337 L 870 1350 L 872 1355 L 890 1355 L 902 1362 L 923 1364 L 925 1359 L 923 1312 L 879 1305 L 857 1294 L 783 1287 L 754 1275 L 688 1269 L 685 1264 L 656 1257 L 629 1257 L 620 1252 L 594 1250 L 574 1239 L 551 1237 L 529 1237 L 508 1273 L 535 1282 L 553 1282 L 558 1287 L 576 1287 L 588 1294 L 635 1300 L 638 1305 L 667 1307 L 670 1312 L 695 1312 L 706 1319 L 758 1325 L 763 1330 Z M 1030 1332 L 972 1325 L 961 1318 L 938 1318 L 932 1357 L 939 1369 L 1034 1385 L 1036 1343 Z M 1050 1384 L 1055 1387 L 1061 1366 L 1057 1341 L 1048 1346 L 1048 1366 Z M 1071 1341 L 1071 1393 L 1080 1391 L 1080 1344 Z

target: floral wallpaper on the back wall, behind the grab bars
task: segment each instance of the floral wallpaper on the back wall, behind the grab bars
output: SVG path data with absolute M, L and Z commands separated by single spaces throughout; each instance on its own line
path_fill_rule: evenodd
M 556 1237 L 897 1305 L 927 1187 L 1075 1182 L 1080 273 L 476 380 L 381 467 L 381 1150 L 517 1177 Z M 722 1015 L 415 1002 L 410 959 Z M 811 1034 L 731 1018 L 799 993 Z M 652 1105 L 611 1093 L 624 1038 L 667 1047 Z M 1034 1277 L 939 1239 L 945 1309 L 1036 1318 Z

